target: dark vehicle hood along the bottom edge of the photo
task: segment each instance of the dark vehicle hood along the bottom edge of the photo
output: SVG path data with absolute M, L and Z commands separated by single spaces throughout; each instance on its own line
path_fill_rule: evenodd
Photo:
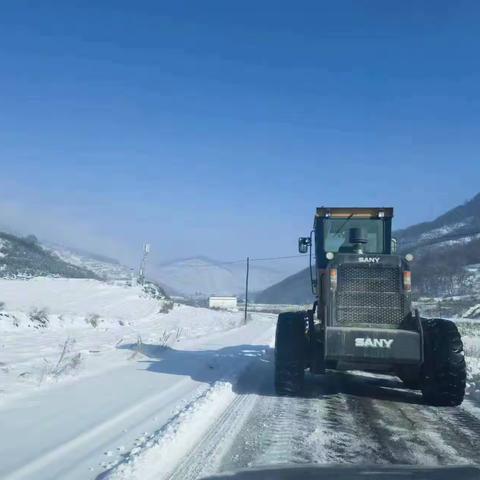
M 278 465 L 222 473 L 204 480 L 480 480 L 479 466 Z

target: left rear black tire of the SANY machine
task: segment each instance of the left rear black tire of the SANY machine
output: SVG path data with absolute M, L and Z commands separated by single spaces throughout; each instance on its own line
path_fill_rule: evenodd
M 275 334 L 275 390 L 279 395 L 296 395 L 303 389 L 306 353 L 307 312 L 286 312 L 278 316 Z

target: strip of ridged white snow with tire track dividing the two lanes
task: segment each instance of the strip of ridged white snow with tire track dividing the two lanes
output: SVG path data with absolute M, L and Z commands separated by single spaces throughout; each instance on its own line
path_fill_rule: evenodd
M 254 343 L 270 341 L 271 336 L 268 330 Z M 253 378 L 244 387 L 248 387 L 249 392 L 258 391 L 257 383 L 263 377 L 257 375 L 259 369 L 254 365 L 269 364 L 272 352 L 267 349 L 258 355 L 245 350 L 245 354 L 248 361 L 223 369 L 222 380 L 179 409 L 149 436 L 145 445 L 126 454 L 98 478 L 193 479 L 215 470 L 223 440 L 234 437 L 235 425 L 241 424 L 239 418 L 248 416 L 248 406 L 253 406 L 256 400 L 253 395 L 239 392 L 237 384 L 242 383 L 244 377 Z

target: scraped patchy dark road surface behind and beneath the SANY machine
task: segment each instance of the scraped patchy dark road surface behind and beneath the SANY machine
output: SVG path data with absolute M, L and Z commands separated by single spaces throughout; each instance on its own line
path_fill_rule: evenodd
M 259 397 L 221 470 L 304 462 L 472 463 L 478 462 L 479 432 L 474 415 L 424 405 L 418 392 L 394 378 L 331 372 L 307 380 L 306 398 Z

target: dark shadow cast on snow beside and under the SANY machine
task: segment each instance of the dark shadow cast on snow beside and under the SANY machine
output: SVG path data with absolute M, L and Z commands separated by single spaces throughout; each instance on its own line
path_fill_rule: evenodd
M 124 344 L 147 363 L 147 371 L 188 376 L 197 382 L 230 382 L 237 394 L 276 396 L 273 386 L 274 355 L 267 345 L 235 345 L 218 350 L 178 350 L 153 344 Z M 146 358 L 145 358 L 146 357 Z M 238 372 L 240 375 L 238 375 Z M 420 392 L 407 390 L 396 377 L 368 376 L 351 371 L 306 374 L 302 398 L 325 398 L 344 394 L 398 403 L 422 404 Z

